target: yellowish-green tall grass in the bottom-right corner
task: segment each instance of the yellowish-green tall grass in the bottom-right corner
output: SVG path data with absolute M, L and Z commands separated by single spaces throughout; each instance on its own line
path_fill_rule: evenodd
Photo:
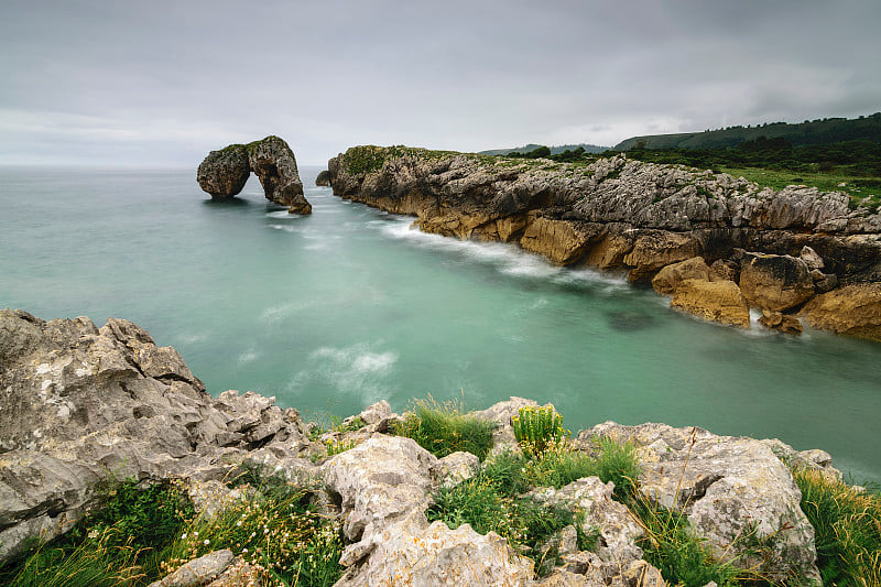
M 808 469 L 793 469 L 802 511 L 814 526 L 824 585 L 881 585 L 881 493 Z

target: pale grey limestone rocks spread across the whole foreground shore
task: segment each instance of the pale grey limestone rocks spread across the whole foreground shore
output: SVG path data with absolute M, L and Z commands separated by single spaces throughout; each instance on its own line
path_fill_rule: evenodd
M 214 515 L 238 491 L 222 481 L 250 464 L 309 487 L 323 515 L 339 524 L 345 572 L 338 586 L 665 585 L 643 558 L 645 528 L 613 499 L 613 483 L 597 477 L 530 490 L 539 503 L 581 515 L 580 526 L 555 539 L 557 564 L 541 579 L 533 559 L 494 532 L 429 523 L 425 511 L 435 492 L 486 464 L 468 453 L 438 458 L 394 435 L 402 416 L 384 401 L 318 435 L 315 424 L 273 398 L 237 391 L 213 398 L 177 351 L 116 318 L 98 328 L 85 317 L 45 322 L 0 311 L 0 561 L 33 539 L 69 530 L 110 477 L 183 480 L 203 514 Z M 519 449 L 512 418 L 535 405 L 511 398 L 472 413 L 494 427 L 491 454 Z M 580 432 L 572 450 L 588 454 L 599 438 L 631 443 L 642 499 L 687 518 L 718 556 L 772 579 L 818 579 L 814 529 L 790 467 L 840 478 L 828 454 L 776 439 L 613 422 Z M 348 449 L 328 455 L 329 446 Z M 579 532 L 596 533 L 592 550 L 579 550 Z M 218 551 L 176 573 L 208 565 L 217 575 L 238 555 Z M 200 576 L 189 584 L 207 583 Z

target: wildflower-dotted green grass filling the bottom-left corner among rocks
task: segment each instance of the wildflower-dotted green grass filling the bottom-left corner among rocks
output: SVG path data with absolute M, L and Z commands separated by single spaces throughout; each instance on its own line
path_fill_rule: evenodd
M 311 488 L 247 467 L 230 485 L 247 499 L 206 520 L 180 483 L 112 483 L 100 510 L 0 568 L 0 584 L 142 586 L 221 548 L 260 565 L 273 585 L 329 587 L 339 579 L 340 528 L 311 506 Z

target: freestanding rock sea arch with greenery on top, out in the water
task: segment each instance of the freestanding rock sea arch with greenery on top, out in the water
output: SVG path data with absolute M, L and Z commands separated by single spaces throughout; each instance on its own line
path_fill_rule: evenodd
M 199 164 L 196 180 L 213 198 L 228 198 L 244 187 L 251 172 L 260 178 L 267 199 L 289 206 L 291 214 L 311 214 L 294 153 L 278 137 L 211 151 Z

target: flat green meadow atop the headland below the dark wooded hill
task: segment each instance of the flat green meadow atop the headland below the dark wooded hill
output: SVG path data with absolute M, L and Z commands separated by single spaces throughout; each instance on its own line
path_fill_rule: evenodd
M 851 208 L 859 204 L 878 211 L 881 202 L 881 180 L 872 180 L 845 173 L 820 173 L 804 171 L 771 170 L 762 167 L 719 167 L 719 171 L 755 182 L 761 187 L 783 189 L 788 185 L 807 185 L 822 192 L 842 192 L 850 197 Z M 846 184 L 839 187 L 839 184 Z

